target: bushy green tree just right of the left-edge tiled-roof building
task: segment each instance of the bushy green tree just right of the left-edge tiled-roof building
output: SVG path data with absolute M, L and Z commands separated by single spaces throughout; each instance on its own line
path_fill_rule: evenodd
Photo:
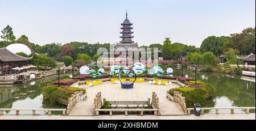
M 43 67 L 44 70 L 46 70 L 47 67 L 57 67 L 56 62 L 47 57 L 46 54 L 34 54 L 34 57 L 32 58 L 32 64 L 35 66 Z

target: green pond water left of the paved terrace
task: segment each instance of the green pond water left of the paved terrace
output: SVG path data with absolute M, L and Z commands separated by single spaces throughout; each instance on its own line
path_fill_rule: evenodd
M 0 108 L 67 108 L 64 105 L 51 105 L 47 102 L 43 102 L 41 88 L 47 82 L 55 80 L 57 80 L 57 75 L 26 84 L 0 85 Z M 15 111 L 4 112 L 4 114 L 8 115 L 15 115 L 15 113 Z M 20 111 L 20 114 L 32 115 L 32 111 Z M 47 112 L 36 111 L 36 114 L 45 115 Z M 52 114 L 61 115 L 62 112 L 52 111 Z

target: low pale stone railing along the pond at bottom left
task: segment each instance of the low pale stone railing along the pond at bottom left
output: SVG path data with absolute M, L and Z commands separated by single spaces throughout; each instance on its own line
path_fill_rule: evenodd
M 13 108 L 13 109 L 4 109 L 0 108 L 0 115 L 3 115 L 4 111 L 16 111 L 16 115 L 20 115 L 20 111 L 31 111 L 32 115 L 36 115 L 36 111 L 47 111 L 48 115 L 52 115 L 52 111 L 62 111 L 63 115 L 66 113 L 66 109 L 32 109 L 32 108 Z

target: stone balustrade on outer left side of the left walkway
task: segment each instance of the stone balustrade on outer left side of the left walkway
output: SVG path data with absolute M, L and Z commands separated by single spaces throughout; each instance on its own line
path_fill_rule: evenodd
M 81 102 L 81 100 L 85 100 L 86 97 L 87 92 L 85 92 L 85 94 L 82 94 L 82 91 L 74 92 L 74 94 L 71 95 L 71 98 L 68 98 L 67 115 L 69 115 L 77 103 Z

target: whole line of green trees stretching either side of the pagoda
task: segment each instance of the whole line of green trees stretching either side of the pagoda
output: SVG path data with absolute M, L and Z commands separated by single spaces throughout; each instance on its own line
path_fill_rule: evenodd
M 82 65 L 89 64 L 91 61 L 97 61 L 97 58 L 100 57 L 96 54 L 97 49 L 103 47 L 109 50 L 110 48 L 110 43 L 89 44 L 76 41 L 67 44 L 50 43 L 40 46 L 31 43 L 26 35 L 22 35 L 16 39 L 13 34 L 13 28 L 10 26 L 4 28 L 1 33 L 2 35 L 0 37 L 4 41 L 0 41 L 0 48 L 7 47 L 7 45 L 13 43 L 22 43 L 32 50 L 30 56 L 45 54 L 38 58 L 51 57 L 55 61 L 64 61 L 65 65 L 71 65 L 73 62 L 77 65 Z M 218 57 L 224 54 L 228 62 L 234 64 L 234 62 L 237 62 L 236 55 L 255 54 L 255 27 L 246 28 L 241 33 L 233 33 L 230 36 L 209 36 L 203 40 L 200 48 L 183 43 L 172 43 L 170 37 L 165 38 L 163 43 L 154 43 L 149 46 L 143 45 L 140 48 L 147 47 L 152 48 L 152 52 L 153 48 L 158 48 L 162 52 L 164 60 L 176 60 L 180 56 L 187 56 L 188 60 L 193 60 L 193 62 L 198 64 L 213 63 L 211 60 L 205 62 L 206 59 L 203 56 L 212 58 L 212 55 Z M 19 55 L 26 57 L 22 53 L 19 53 Z M 199 62 L 199 58 L 201 58 L 201 62 Z

